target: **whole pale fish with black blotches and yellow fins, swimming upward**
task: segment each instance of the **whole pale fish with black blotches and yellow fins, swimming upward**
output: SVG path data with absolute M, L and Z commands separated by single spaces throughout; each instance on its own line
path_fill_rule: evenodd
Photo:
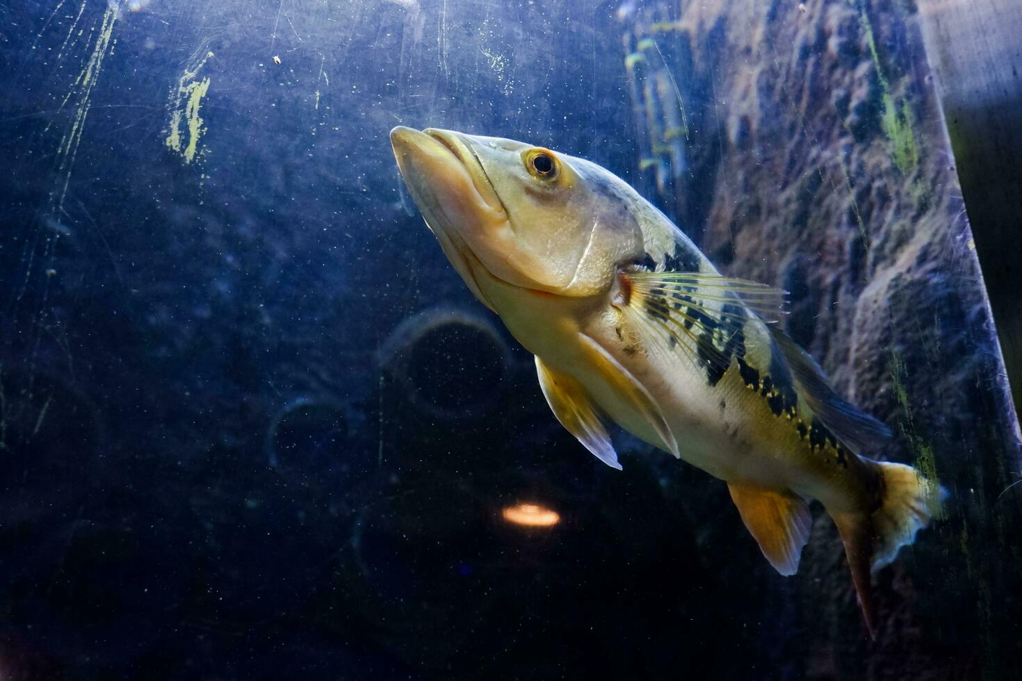
M 797 572 L 818 501 L 875 636 L 872 573 L 942 513 L 946 492 L 867 456 L 891 430 L 784 333 L 785 292 L 722 274 L 592 161 L 440 129 L 399 126 L 390 143 L 454 270 L 535 355 L 561 425 L 611 468 L 616 425 L 726 482 L 781 575 Z

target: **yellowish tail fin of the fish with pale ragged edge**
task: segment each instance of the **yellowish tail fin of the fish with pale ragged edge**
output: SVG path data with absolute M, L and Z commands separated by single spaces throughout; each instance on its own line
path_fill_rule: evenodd
M 891 563 L 899 548 L 912 544 L 916 533 L 940 513 L 946 496 L 943 488 L 911 466 L 876 465 L 883 476 L 880 507 L 870 514 L 834 515 L 871 637 L 876 636 L 877 619 L 870 574 Z

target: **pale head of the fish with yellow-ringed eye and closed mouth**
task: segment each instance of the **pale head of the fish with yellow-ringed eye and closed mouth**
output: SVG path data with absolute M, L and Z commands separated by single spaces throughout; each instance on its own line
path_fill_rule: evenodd
M 473 293 L 486 278 L 561 296 L 607 291 L 643 254 L 634 191 L 590 161 L 446 130 L 394 128 L 412 198 Z M 499 311 L 499 310 L 498 310 Z

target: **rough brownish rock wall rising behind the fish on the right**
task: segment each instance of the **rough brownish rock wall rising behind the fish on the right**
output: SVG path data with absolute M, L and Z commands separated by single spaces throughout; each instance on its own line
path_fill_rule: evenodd
M 689 141 L 688 191 L 712 201 L 691 233 L 728 254 L 729 272 L 791 292 L 789 333 L 898 433 L 864 453 L 914 463 L 951 492 L 948 518 L 877 576 L 884 623 L 872 645 L 818 514 L 793 580 L 800 645 L 814 651 L 797 676 L 1001 678 L 1018 640 L 983 594 L 1022 584 L 1006 557 L 1019 540 L 996 529 L 1018 523 L 1018 500 L 994 503 L 1017 443 L 918 16 L 883 0 L 803 6 L 657 5 L 644 25 L 669 17 L 661 49 L 696 55 L 679 84 L 705 121 Z M 707 503 L 730 513 L 724 496 Z

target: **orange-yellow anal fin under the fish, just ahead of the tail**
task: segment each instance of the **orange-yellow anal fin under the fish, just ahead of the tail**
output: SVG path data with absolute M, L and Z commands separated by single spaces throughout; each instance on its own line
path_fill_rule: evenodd
M 798 572 L 798 560 L 812 527 L 808 504 L 790 492 L 734 483 L 728 489 L 742 522 L 771 565 L 785 577 Z

